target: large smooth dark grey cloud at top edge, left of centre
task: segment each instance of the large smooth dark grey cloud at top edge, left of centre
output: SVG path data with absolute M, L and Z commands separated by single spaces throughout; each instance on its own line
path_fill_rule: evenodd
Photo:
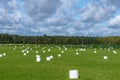
M 35 21 L 42 21 L 56 12 L 60 0 L 26 0 L 24 7 Z

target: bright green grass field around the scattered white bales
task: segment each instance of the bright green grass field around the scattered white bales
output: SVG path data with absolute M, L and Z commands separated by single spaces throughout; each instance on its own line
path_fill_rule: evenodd
M 97 47 L 96 53 L 95 48 L 80 49 L 74 45 L 0 45 L 0 54 L 6 53 L 0 57 L 0 80 L 70 80 L 69 70 L 74 69 L 79 71 L 77 80 L 120 80 L 119 48 L 108 51 L 108 48 Z M 29 53 L 24 56 L 22 50 Z M 40 55 L 40 62 L 36 62 L 36 54 Z M 53 59 L 46 61 L 50 55 Z M 103 56 L 108 59 L 104 60 Z

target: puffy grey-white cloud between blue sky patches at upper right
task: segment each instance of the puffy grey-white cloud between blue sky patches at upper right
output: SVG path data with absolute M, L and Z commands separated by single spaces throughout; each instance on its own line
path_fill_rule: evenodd
M 81 20 L 92 23 L 99 23 L 109 19 L 115 13 L 116 7 L 100 2 L 88 3 L 82 12 Z

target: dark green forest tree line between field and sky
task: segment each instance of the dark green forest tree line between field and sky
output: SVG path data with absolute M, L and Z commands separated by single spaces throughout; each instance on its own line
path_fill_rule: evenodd
M 0 44 L 120 44 L 120 36 L 20 36 L 0 34 Z

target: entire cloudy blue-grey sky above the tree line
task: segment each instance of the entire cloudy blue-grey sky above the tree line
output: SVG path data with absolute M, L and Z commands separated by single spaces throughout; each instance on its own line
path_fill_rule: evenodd
M 0 33 L 120 36 L 120 0 L 0 0 Z

